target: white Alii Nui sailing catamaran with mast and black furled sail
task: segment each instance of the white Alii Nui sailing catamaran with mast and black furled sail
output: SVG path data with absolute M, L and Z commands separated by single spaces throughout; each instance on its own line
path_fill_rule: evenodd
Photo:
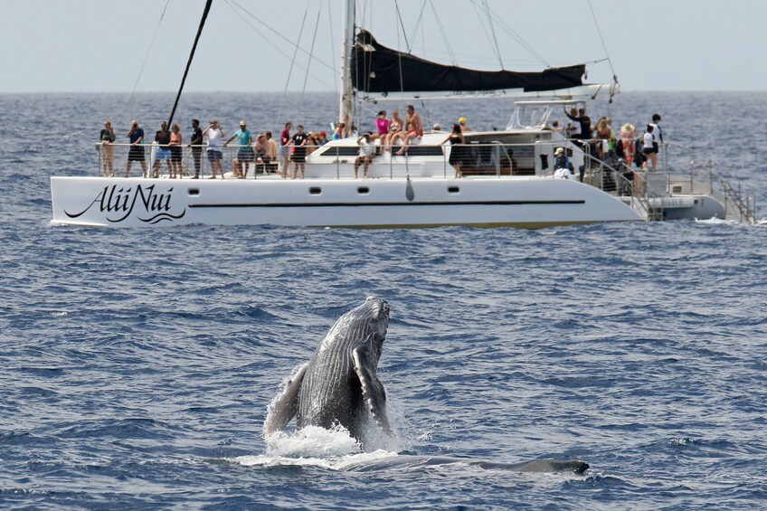
M 668 172 L 632 176 L 630 162 L 592 156 L 591 143 L 551 128 L 555 110 L 618 92 L 617 82 L 584 84 L 585 65 L 514 72 L 427 62 L 386 48 L 357 28 L 351 0 L 345 7 L 342 62 L 341 119 L 355 119 L 358 101 L 393 93 L 424 99 L 524 91 L 535 100 L 518 101 L 503 131 L 463 134 L 461 178 L 450 166 L 450 152 L 457 146 L 445 144 L 447 132 L 423 133 L 401 156 L 399 147 L 387 151 L 378 146 L 367 179 L 355 179 L 360 147 L 357 137 L 347 137 L 309 154 L 305 179 L 284 179 L 257 165 L 251 165 L 251 177 L 245 179 L 52 176 L 52 222 L 358 228 L 541 228 L 685 218 L 753 222 L 753 199 L 743 197 L 730 181 L 711 174 L 707 180 Z M 573 178 L 553 175 L 560 147 L 575 170 Z

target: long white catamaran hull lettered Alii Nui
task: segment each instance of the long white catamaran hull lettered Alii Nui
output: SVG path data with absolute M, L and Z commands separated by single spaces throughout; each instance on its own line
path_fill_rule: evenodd
M 642 220 L 609 194 L 573 180 L 169 180 L 51 178 L 53 223 L 420 228 L 518 227 Z

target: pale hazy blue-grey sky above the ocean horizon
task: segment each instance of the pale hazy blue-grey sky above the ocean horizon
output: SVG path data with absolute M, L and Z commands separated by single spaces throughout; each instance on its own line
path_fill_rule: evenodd
M 488 70 L 503 62 L 532 71 L 606 56 L 588 0 L 487 0 L 497 14 L 492 30 L 483 0 L 358 4 L 358 21 L 379 41 L 403 49 L 406 35 L 414 54 L 438 62 Z M 591 5 L 624 91 L 767 88 L 764 0 Z M 169 0 L 167 7 L 166 0 L 0 0 L 0 6 L 0 93 L 130 92 L 177 89 L 204 0 Z M 214 0 L 185 90 L 336 90 L 341 14 L 339 0 Z M 290 71 L 299 37 L 306 52 L 314 46 L 315 57 L 309 62 L 298 52 Z M 607 62 L 590 69 L 587 81 L 611 78 Z

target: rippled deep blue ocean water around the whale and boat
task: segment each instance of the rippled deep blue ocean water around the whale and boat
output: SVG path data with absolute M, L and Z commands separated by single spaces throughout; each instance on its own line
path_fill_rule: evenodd
M 765 505 L 763 223 L 51 226 L 49 176 L 96 174 L 103 118 L 118 136 L 130 118 L 148 130 L 171 101 L 0 96 L 0 507 Z M 753 143 L 767 94 L 624 93 L 602 108 L 616 126 L 659 111 L 665 137 L 767 200 Z M 319 130 L 335 111 L 328 95 L 190 94 L 177 118 Z M 490 102 L 421 111 L 507 121 Z M 368 295 L 392 308 L 379 375 L 397 438 L 368 452 L 343 431 L 268 444 L 281 384 Z M 508 469 L 540 458 L 591 468 Z

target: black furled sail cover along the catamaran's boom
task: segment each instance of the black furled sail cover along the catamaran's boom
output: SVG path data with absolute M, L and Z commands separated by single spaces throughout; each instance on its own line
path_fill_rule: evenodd
M 397 52 L 361 30 L 352 53 L 352 83 L 374 93 L 522 89 L 559 90 L 582 85 L 585 64 L 539 72 L 476 71 L 429 62 Z

